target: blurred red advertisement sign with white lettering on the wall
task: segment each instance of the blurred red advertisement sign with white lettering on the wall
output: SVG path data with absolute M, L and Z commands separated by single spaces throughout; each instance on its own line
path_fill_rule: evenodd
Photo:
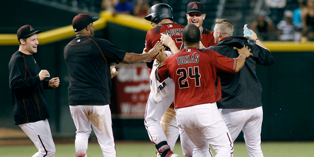
M 115 76 L 119 116 L 123 118 L 144 118 L 150 92 L 146 64 L 119 64 L 115 68 L 119 72 Z

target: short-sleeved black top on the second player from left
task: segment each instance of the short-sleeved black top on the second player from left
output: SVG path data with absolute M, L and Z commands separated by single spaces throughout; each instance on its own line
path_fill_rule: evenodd
M 69 73 L 69 105 L 110 104 L 110 63 L 119 64 L 126 52 L 109 41 L 76 37 L 64 48 Z

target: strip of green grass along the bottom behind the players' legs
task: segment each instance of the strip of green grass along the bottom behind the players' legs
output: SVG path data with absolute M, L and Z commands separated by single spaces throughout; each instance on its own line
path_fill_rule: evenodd
M 262 142 L 262 150 L 265 157 L 314 157 L 311 151 L 314 142 Z M 74 144 L 56 144 L 56 157 L 75 156 Z M 34 145 L 10 145 L 0 146 L 2 157 L 32 156 L 37 151 Z M 148 141 L 118 141 L 116 142 L 117 157 L 153 157 L 155 147 Z M 175 153 L 183 156 L 180 144 L 177 143 Z M 88 157 L 102 156 L 101 149 L 97 143 L 89 144 Z M 234 143 L 234 157 L 248 157 L 245 143 Z

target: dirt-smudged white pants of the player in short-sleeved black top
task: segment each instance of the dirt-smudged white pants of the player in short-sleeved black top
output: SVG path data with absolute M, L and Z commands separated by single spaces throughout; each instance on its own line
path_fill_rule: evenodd
M 116 157 L 109 105 L 75 105 L 70 112 L 76 128 L 75 154 L 87 156 L 88 139 L 93 126 L 103 157 Z

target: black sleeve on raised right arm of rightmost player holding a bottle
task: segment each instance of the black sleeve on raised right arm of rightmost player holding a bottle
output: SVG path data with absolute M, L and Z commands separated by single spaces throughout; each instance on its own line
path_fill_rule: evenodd
M 274 64 L 274 58 L 269 50 L 266 50 L 256 44 L 248 43 L 249 48 L 251 48 L 251 53 L 256 64 L 259 65 L 272 65 Z

